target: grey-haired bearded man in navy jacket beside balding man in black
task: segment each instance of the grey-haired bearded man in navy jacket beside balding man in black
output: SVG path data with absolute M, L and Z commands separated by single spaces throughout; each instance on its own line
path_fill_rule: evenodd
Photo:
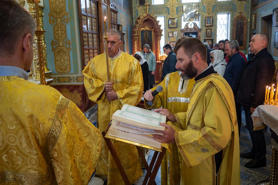
M 238 52 L 239 44 L 237 40 L 230 40 L 225 45 L 225 53 L 230 58 L 226 66 L 224 78 L 231 86 L 234 98 L 237 95 L 239 82 L 242 76 L 245 60 Z M 236 99 L 236 98 L 235 98 Z M 238 120 L 238 134 L 240 135 L 241 127 L 241 104 L 235 102 L 237 120 Z

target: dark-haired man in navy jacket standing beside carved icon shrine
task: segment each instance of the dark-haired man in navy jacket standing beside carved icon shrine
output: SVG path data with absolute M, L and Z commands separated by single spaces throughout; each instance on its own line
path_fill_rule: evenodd
M 162 68 L 162 76 L 161 76 L 161 80 L 164 79 L 164 77 L 171 73 L 171 72 L 175 72 L 178 71 L 175 66 L 177 63 L 177 56 L 176 54 L 172 51 L 172 47 L 170 46 L 170 44 L 166 44 L 165 46 L 163 46 L 163 51 L 164 53 L 166 53 L 168 56 L 166 57 L 164 64 L 163 64 L 163 68 Z

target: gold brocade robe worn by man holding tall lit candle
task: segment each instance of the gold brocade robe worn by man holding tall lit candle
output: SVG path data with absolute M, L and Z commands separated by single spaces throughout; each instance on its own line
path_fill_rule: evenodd
M 98 125 L 103 132 L 111 120 L 112 114 L 124 104 L 137 105 L 143 93 L 143 77 L 139 62 L 131 55 L 121 52 L 118 57 L 109 58 L 110 76 L 113 90 L 119 99 L 107 101 L 104 87 L 107 82 L 105 55 L 97 55 L 83 70 L 84 85 L 91 101 L 98 104 Z M 124 167 L 129 182 L 132 184 L 142 176 L 136 146 L 123 142 L 113 142 L 116 153 Z M 102 149 L 97 166 L 97 174 L 107 176 L 107 184 L 124 185 L 120 172 L 102 138 Z

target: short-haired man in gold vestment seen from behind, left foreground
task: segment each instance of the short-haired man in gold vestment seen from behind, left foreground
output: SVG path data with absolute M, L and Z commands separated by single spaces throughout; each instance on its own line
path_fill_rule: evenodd
M 27 81 L 36 22 L 0 1 L 0 183 L 88 184 L 101 134 L 56 89 Z

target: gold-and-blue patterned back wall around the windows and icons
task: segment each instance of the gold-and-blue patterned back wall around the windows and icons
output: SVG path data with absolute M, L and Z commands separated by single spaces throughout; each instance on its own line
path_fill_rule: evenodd
M 152 1 L 149 1 L 152 3 Z M 136 21 L 136 18 L 139 15 L 143 14 L 143 11 L 146 12 L 145 6 L 139 6 L 139 0 L 133 0 L 133 24 Z M 183 4 L 181 0 L 165 0 L 165 4 L 163 5 L 151 5 L 149 8 L 149 12 L 153 13 L 155 16 L 165 16 L 165 44 L 170 43 L 171 41 L 176 41 L 180 38 L 180 30 L 181 28 L 181 15 L 183 14 Z M 244 15 L 246 19 L 250 19 L 250 2 L 246 1 L 220 1 L 217 0 L 201 0 L 199 4 L 199 15 L 200 15 L 200 28 L 201 31 L 201 40 L 204 39 L 213 39 L 213 43 L 218 42 L 216 38 L 217 31 L 217 13 L 230 13 L 231 21 L 230 21 L 230 38 L 233 38 L 233 20 L 238 15 Z M 136 5 L 136 6 L 135 6 Z M 213 26 L 205 27 L 205 17 L 213 16 Z M 168 19 L 169 18 L 178 18 L 178 28 L 168 28 Z M 205 29 L 212 29 L 212 37 L 205 37 Z M 247 30 L 249 30 L 249 23 L 247 23 Z M 169 31 L 177 31 L 178 37 L 168 37 Z M 249 34 L 245 35 L 249 37 Z M 248 41 L 246 40 L 246 50 L 242 50 L 242 52 L 246 52 L 248 50 Z

